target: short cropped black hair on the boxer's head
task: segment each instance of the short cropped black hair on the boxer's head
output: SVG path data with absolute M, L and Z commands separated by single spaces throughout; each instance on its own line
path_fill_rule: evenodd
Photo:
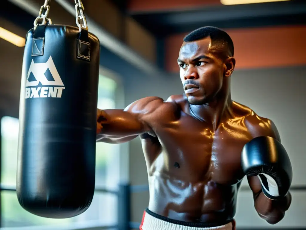
M 201 40 L 210 37 L 212 45 L 222 46 L 227 49 L 231 56 L 234 56 L 233 41 L 225 31 L 213 26 L 205 26 L 192 31 L 184 37 L 185 42 Z

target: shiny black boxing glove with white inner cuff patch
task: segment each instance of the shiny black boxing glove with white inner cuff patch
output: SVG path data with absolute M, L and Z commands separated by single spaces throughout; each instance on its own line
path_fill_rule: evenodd
M 279 200 L 288 193 L 292 167 L 282 144 L 269 136 L 259 136 L 244 145 L 241 165 L 247 176 L 258 176 L 263 194 Z

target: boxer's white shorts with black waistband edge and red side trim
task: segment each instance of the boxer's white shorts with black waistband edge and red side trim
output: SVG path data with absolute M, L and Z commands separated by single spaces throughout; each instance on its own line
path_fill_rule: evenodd
M 235 230 L 235 220 L 221 225 L 209 227 L 207 224 L 172 220 L 151 212 L 144 211 L 140 230 Z

